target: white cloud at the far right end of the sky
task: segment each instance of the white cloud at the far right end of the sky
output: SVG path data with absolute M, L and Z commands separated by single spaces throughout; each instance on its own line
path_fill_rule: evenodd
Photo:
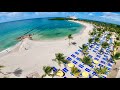
M 114 21 L 120 21 L 120 14 L 118 13 L 112 13 L 112 12 L 104 12 L 102 16 L 100 16 L 105 19 L 110 19 Z

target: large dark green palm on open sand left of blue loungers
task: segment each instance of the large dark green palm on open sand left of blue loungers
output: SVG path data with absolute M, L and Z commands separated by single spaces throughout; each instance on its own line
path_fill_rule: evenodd
M 53 59 L 53 61 L 56 61 L 59 66 L 61 66 L 61 64 L 64 64 L 64 66 L 66 67 L 66 64 L 69 63 L 69 61 L 65 59 L 65 56 L 63 53 L 56 53 L 55 57 L 56 58 Z

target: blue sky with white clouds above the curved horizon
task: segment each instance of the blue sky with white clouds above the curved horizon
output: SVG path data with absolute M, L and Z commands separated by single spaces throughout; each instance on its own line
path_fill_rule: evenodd
M 120 25 L 120 12 L 0 12 L 0 23 L 22 19 L 76 16 Z

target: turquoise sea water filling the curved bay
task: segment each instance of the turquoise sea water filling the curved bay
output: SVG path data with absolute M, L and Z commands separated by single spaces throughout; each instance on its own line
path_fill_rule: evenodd
M 0 51 L 18 43 L 16 38 L 34 34 L 33 39 L 53 39 L 78 33 L 84 26 L 70 21 L 37 18 L 0 23 Z

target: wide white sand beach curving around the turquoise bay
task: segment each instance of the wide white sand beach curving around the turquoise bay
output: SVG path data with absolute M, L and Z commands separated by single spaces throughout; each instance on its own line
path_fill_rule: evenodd
M 5 66 L 1 71 L 4 73 L 14 72 L 20 68 L 22 70 L 20 77 L 24 78 L 33 72 L 38 72 L 40 76 L 43 75 L 43 66 L 49 65 L 60 68 L 56 62 L 52 61 L 55 58 L 55 53 L 63 53 L 65 56 L 74 53 L 79 49 L 78 46 L 88 42 L 90 37 L 88 33 L 94 28 L 93 25 L 82 21 L 74 22 L 83 24 L 86 27 L 82 33 L 73 35 L 71 41 L 76 42 L 76 46 L 69 46 L 68 39 L 65 40 L 65 38 L 48 41 L 34 41 L 25 38 L 22 44 L 17 46 L 19 47 L 17 50 L 0 57 L 0 65 Z M 0 77 L 3 77 L 2 74 L 0 74 Z M 15 74 L 10 74 L 9 77 L 18 78 Z

